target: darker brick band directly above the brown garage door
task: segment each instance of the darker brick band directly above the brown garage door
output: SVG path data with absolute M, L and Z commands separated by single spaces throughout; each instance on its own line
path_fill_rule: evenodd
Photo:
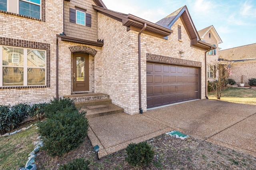
M 174 57 L 167 57 L 167 56 L 149 54 L 149 53 L 147 53 L 147 61 L 152 61 L 156 63 L 183 65 L 183 66 L 202 67 L 202 62 L 178 59 Z

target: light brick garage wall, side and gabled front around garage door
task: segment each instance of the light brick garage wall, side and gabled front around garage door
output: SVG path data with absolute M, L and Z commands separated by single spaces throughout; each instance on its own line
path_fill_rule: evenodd
M 182 26 L 182 41 L 178 40 L 178 24 Z M 202 63 L 202 98 L 205 96 L 204 51 L 190 47 L 190 39 L 178 19 L 174 32 L 168 40 L 141 34 L 142 66 L 142 109 L 146 111 L 146 57 L 147 54 L 162 55 L 180 59 L 179 51 L 184 51 L 182 59 Z M 95 84 L 101 84 L 96 92 L 110 95 L 114 104 L 120 105 L 129 114 L 139 113 L 138 96 L 138 31 L 126 31 L 121 22 L 98 14 L 98 38 L 104 39 L 101 67 L 95 70 Z

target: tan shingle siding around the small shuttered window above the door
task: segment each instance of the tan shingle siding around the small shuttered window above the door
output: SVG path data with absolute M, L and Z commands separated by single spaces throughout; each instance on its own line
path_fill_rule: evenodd
M 70 2 L 64 1 L 64 30 L 68 37 L 97 41 L 97 12 L 92 8 L 92 4 L 95 5 L 93 0 L 71 0 Z M 86 10 L 86 13 L 91 14 L 91 27 L 71 23 L 69 21 L 69 10 L 70 8 L 76 9 L 75 6 L 83 8 Z

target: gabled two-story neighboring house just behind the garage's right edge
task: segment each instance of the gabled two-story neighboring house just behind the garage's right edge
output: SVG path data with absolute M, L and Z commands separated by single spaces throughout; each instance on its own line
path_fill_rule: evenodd
M 222 43 L 222 40 L 213 25 L 201 29 L 198 31 L 198 34 L 202 41 L 217 47 L 216 49 L 212 49 L 206 53 L 207 79 L 209 81 L 214 81 L 214 69 L 218 64 L 218 46 Z

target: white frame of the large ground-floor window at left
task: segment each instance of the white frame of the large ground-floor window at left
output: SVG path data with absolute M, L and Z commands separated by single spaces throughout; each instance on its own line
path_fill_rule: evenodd
M 10 48 L 19 48 L 23 49 L 23 66 L 19 66 L 23 68 L 24 70 L 24 75 L 23 75 L 23 86 L 28 86 L 28 68 L 43 68 L 44 69 L 44 85 L 29 85 L 29 86 L 46 86 L 46 68 L 47 68 L 47 61 L 46 61 L 46 50 L 43 49 L 31 49 L 31 48 L 23 48 L 23 47 L 14 47 L 14 46 L 8 46 L 8 45 L 0 45 L 0 87 L 10 87 L 10 86 L 3 86 L 3 67 L 14 67 L 14 66 L 6 66 L 3 65 L 3 47 L 10 47 Z M 28 50 L 39 50 L 39 51 L 44 51 L 45 52 L 45 65 L 44 67 L 33 67 L 33 66 L 28 66 Z M 19 85 L 21 86 L 21 85 Z

